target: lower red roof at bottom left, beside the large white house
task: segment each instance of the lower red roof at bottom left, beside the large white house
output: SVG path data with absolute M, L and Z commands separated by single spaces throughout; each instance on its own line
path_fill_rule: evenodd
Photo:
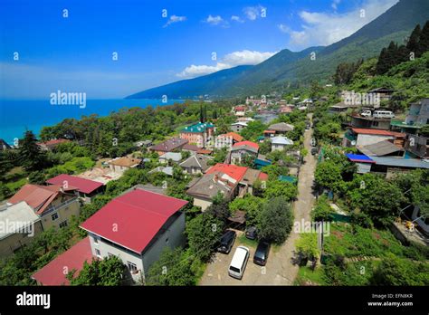
M 91 262 L 91 260 L 91 243 L 90 237 L 87 236 L 35 272 L 32 278 L 43 285 L 68 285 L 70 282 L 65 277 L 64 267 L 67 267 L 69 272 L 75 269 L 74 276 L 77 276 L 83 268 L 83 262 Z

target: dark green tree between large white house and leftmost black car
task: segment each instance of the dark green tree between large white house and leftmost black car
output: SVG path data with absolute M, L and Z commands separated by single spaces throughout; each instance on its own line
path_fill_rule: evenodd
M 205 212 L 195 216 L 186 226 L 191 253 L 202 262 L 210 261 L 223 229 L 224 223 L 213 214 Z

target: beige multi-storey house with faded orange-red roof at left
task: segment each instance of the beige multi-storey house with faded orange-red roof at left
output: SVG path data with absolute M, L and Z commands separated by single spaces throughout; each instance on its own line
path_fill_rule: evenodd
M 78 216 L 81 204 L 74 186 L 41 186 L 26 184 L 7 203 L 15 205 L 24 201 L 41 218 L 43 230 L 51 226 L 64 227 L 70 224 L 71 216 Z

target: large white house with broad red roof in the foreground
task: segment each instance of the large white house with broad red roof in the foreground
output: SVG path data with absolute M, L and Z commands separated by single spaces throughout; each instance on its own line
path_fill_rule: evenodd
M 181 210 L 187 203 L 137 186 L 104 205 L 81 228 L 89 234 L 94 257 L 116 255 L 134 280 L 144 280 L 165 247 L 184 244 L 185 214 Z

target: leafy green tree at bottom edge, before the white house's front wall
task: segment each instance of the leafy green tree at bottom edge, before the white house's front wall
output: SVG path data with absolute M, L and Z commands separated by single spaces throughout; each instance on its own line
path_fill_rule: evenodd
M 117 256 L 102 260 L 92 259 L 91 263 L 84 262 L 79 274 L 74 277 L 75 271 L 67 274 L 71 285 L 101 285 L 117 286 L 122 283 L 126 266 Z

